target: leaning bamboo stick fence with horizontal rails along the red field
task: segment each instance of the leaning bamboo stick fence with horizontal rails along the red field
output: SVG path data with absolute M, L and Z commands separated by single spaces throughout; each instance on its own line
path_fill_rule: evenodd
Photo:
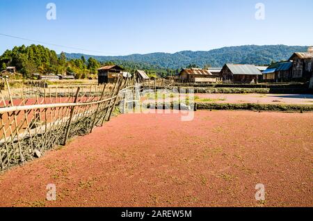
M 68 88 L 1 90 L 0 170 L 31 161 L 74 136 L 90 133 L 109 121 L 122 88 L 114 84 Z

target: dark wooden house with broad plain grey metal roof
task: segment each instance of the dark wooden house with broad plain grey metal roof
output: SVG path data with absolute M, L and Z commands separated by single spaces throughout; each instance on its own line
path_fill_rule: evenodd
M 220 76 L 224 83 L 257 83 L 262 73 L 255 65 L 225 64 Z

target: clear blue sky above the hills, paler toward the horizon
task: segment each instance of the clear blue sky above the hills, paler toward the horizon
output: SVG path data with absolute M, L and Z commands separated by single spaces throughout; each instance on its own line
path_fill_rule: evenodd
M 56 20 L 46 17 L 56 4 Z M 264 3 L 265 19 L 255 19 Z M 0 0 L 0 33 L 95 55 L 313 44 L 312 0 Z M 27 40 L 0 35 L 0 54 Z M 86 49 L 90 51 L 84 51 Z

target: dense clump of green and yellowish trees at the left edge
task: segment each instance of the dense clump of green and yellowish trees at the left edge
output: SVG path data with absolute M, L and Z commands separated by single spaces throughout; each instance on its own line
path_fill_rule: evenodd
M 22 45 L 6 50 L 0 56 L 1 70 L 9 66 L 16 67 L 17 72 L 25 79 L 30 79 L 33 74 L 74 74 L 77 79 L 84 79 L 97 74 L 101 66 L 95 58 L 68 60 L 65 53 L 59 56 L 56 51 L 42 45 L 32 44 L 29 47 Z

